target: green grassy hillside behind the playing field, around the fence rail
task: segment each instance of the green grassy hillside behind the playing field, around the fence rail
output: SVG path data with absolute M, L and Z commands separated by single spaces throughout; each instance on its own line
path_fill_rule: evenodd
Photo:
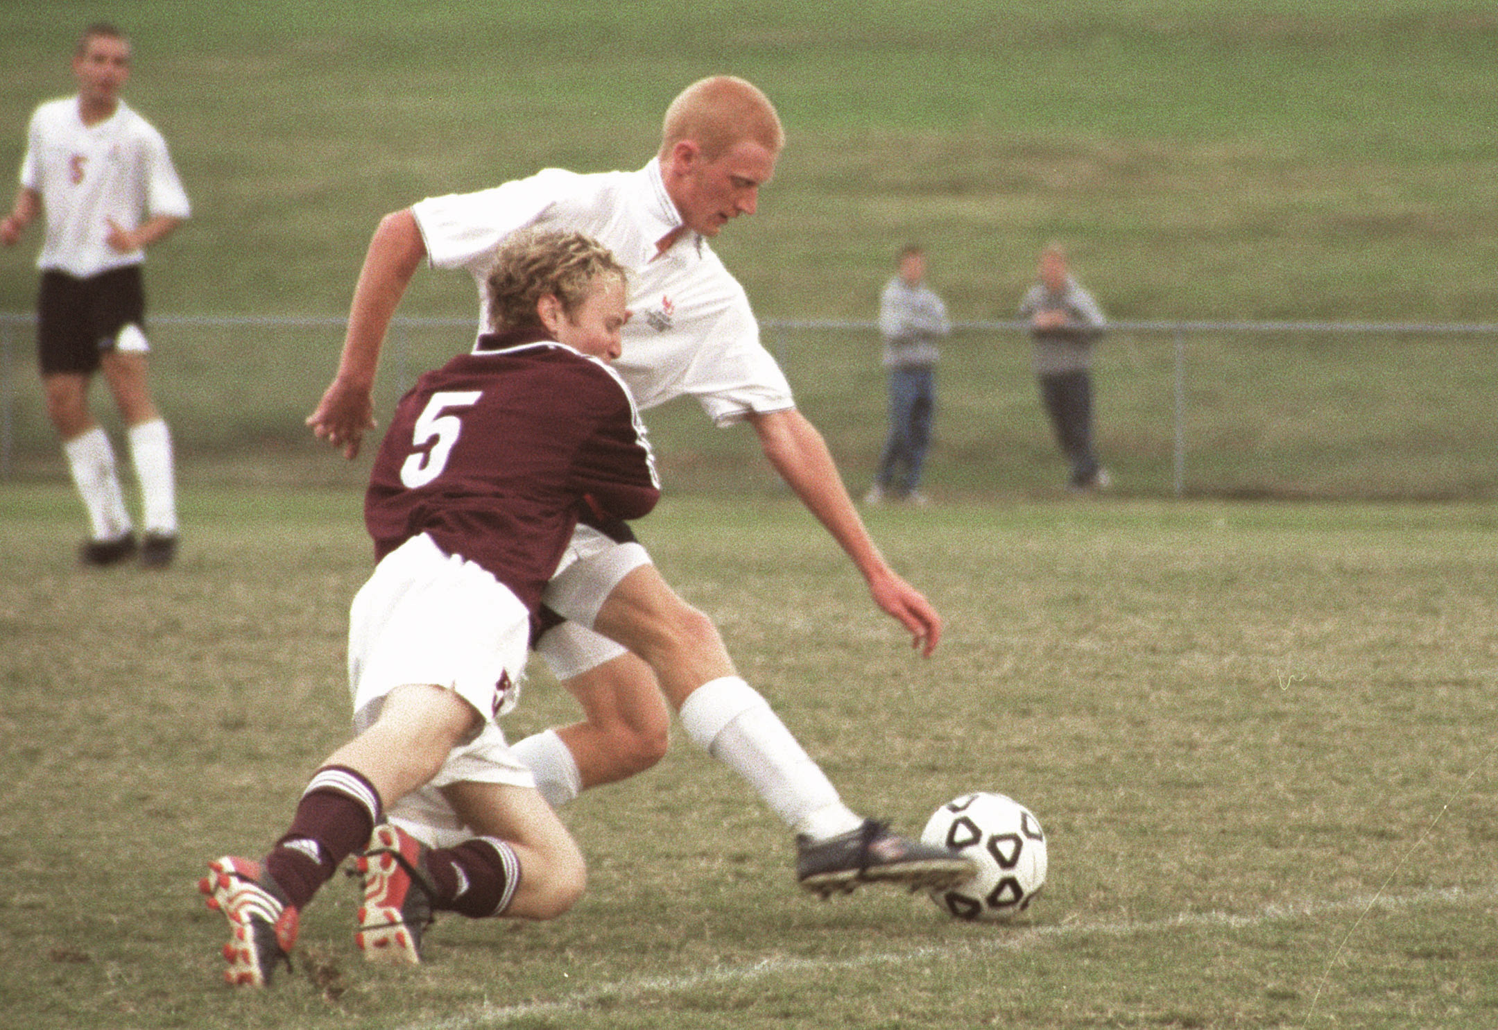
M 186 0 L 117 0 L 46 12 L 0 7 L 0 168 L 19 160 L 34 103 L 72 87 L 78 25 L 127 25 L 127 96 L 171 139 L 196 205 L 151 260 L 157 313 L 339 319 L 385 211 L 544 165 L 635 168 L 670 97 L 718 70 L 761 82 L 789 130 L 759 214 L 718 244 L 764 317 L 872 319 L 908 237 L 929 246 L 932 281 L 963 320 L 1010 317 L 1053 237 L 1119 319 L 1492 322 L 1498 310 L 1488 4 L 774 0 L 749 15 L 659 0 L 274 0 L 205 16 Z M 33 234 L 0 258 L 0 311 L 31 308 L 34 246 Z M 403 305 L 472 311 L 467 277 L 431 271 Z M 157 392 L 189 460 L 304 457 L 301 419 L 336 364 L 336 325 L 154 335 Z M 458 337 L 403 346 L 419 370 Z M 1189 493 L 1495 493 L 1488 337 L 1338 337 L 1330 359 L 1318 338 L 1189 343 Z M 884 419 L 875 341 L 801 334 L 789 346 L 803 406 L 837 457 L 866 469 Z M 954 344 L 935 487 L 1056 488 L 1022 346 Z M 1109 461 L 1144 496 L 1173 487 L 1168 346 L 1115 341 L 1100 382 Z M 12 347 L 15 475 L 57 476 L 28 332 Z M 392 379 L 386 368 L 385 406 Z M 728 451 L 739 469 L 743 434 L 701 445 L 695 413 L 652 422 L 677 482 L 733 482 L 712 455 Z

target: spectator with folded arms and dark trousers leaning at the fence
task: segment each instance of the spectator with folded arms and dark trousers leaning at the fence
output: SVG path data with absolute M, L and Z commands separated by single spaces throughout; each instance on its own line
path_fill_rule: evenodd
M 1068 490 L 1104 490 L 1109 470 L 1092 442 L 1092 347 L 1107 328 L 1098 302 L 1067 268 L 1067 253 L 1050 244 L 1040 256 L 1040 281 L 1020 302 L 1034 341 L 1032 367 L 1040 397 L 1071 464 Z

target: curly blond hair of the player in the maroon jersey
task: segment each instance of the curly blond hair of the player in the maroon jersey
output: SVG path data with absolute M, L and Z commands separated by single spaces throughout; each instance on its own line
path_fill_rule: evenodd
M 617 275 L 628 284 L 625 266 L 592 237 L 547 229 L 518 232 L 499 249 L 484 277 L 488 328 L 491 332 L 539 328 L 536 305 L 548 293 L 572 317 L 599 275 Z

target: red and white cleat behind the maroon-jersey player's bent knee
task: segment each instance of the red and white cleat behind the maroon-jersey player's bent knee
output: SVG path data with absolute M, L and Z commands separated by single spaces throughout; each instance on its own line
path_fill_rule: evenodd
M 364 958 L 421 963 L 421 934 L 431 925 L 436 886 L 425 867 L 427 846 L 392 823 L 380 823 L 360 856 L 364 904 L 354 943 Z

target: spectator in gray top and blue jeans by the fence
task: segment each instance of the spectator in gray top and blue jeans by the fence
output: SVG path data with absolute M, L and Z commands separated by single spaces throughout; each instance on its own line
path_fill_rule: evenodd
M 879 295 L 884 367 L 890 373 L 890 436 L 864 503 L 927 503 L 921 469 L 932 442 L 936 407 L 936 341 L 951 332 L 947 305 L 926 286 L 926 252 L 900 249 L 899 274 Z

